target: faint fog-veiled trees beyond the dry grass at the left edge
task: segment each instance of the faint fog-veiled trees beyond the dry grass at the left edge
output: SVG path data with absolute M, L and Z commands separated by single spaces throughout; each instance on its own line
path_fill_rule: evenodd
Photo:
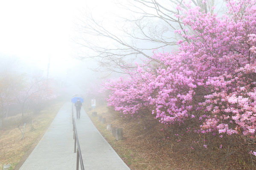
M 29 65 L 20 68 L 19 59 L 15 57 L 0 56 L 0 128 L 3 126 L 3 119 L 8 117 L 9 110 L 21 108 L 24 116 L 25 108 L 33 104 L 35 108 L 56 97 L 51 82 L 42 74 L 26 74 L 31 69 Z M 37 72 L 34 70 L 33 72 Z M 10 108 L 10 109 L 9 109 Z M 32 108 L 32 107 L 31 107 Z M 16 114 L 19 111 L 16 109 Z

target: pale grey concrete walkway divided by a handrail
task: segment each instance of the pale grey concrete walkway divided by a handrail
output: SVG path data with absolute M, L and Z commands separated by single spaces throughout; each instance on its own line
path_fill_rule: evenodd
M 76 170 L 71 106 L 71 102 L 62 106 L 20 170 Z M 130 170 L 84 109 L 81 109 L 80 119 L 76 119 L 76 127 L 85 170 Z

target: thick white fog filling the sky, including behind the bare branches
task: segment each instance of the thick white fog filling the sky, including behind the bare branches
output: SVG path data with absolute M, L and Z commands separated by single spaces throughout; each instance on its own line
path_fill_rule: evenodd
M 175 10 L 169 1 L 159 4 L 168 6 L 160 6 L 166 14 Z M 213 4 L 221 14 L 224 3 L 208 3 Z M 15 91 L 2 94 L 2 108 L 8 100 L 24 105 L 42 90 L 32 92 L 31 87 L 42 84 L 51 84 L 51 95 L 62 100 L 94 98 L 106 78 L 136 69 L 135 62 L 150 58 L 155 49 L 177 50 L 179 24 L 161 14 L 155 17 L 153 7 L 136 0 L 1 1 L 0 74 Z M 17 83 L 20 88 L 11 88 Z

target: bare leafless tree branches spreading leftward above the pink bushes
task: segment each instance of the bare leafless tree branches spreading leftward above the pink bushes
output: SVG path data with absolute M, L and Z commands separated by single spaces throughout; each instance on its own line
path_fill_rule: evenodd
M 207 3 L 192 0 L 192 5 L 200 6 L 205 12 L 213 4 L 214 0 Z M 74 42 L 85 52 L 77 58 L 97 61 L 98 71 L 123 73 L 126 69 L 135 68 L 131 63 L 137 57 L 153 59 L 153 50 L 177 45 L 175 30 L 181 29 L 183 34 L 187 34 L 182 21 L 176 17 L 181 14 L 176 6 L 188 10 L 183 0 L 127 0 L 117 1 L 116 5 L 131 16 L 116 14 L 116 18 L 122 21 L 116 22 L 114 29 L 108 28 L 105 20 L 97 21 L 92 14 L 84 14 L 84 18 L 79 20 L 80 36 Z M 189 42 L 183 37 L 179 39 Z

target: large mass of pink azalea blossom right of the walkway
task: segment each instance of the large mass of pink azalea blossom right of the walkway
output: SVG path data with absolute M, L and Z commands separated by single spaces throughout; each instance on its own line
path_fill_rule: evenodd
M 179 50 L 154 53 L 130 77 L 105 82 L 108 105 L 166 125 L 197 122 L 201 133 L 255 136 L 256 1 L 228 1 L 221 17 L 200 7 L 176 17 Z

